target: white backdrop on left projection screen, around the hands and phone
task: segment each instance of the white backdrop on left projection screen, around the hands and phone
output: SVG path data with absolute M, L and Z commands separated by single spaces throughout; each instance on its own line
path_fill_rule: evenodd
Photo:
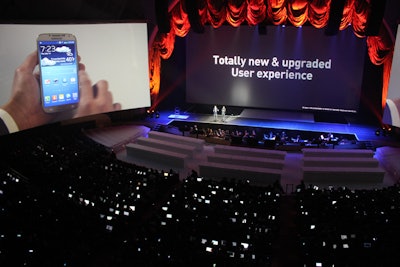
M 0 106 L 11 95 L 15 69 L 36 50 L 40 33 L 72 33 L 93 83 L 106 80 L 123 110 L 149 107 L 147 24 L 0 24 Z

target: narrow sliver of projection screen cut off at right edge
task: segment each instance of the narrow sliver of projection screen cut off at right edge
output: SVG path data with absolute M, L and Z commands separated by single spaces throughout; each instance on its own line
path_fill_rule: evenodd
M 400 127 L 400 25 L 397 26 L 389 88 L 383 111 L 383 123 Z

